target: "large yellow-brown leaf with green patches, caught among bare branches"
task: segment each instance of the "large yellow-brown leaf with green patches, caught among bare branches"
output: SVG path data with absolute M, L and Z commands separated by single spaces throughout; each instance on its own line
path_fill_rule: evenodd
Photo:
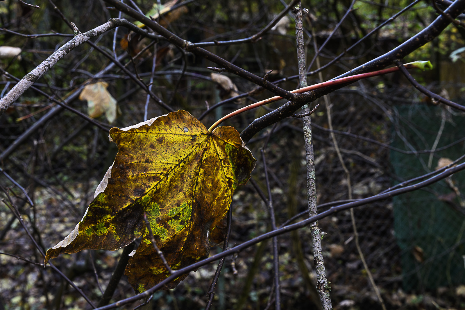
M 126 267 L 130 283 L 141 292 L 168 276 L 147 235 L 144 212 L 174 270 L 206 258 L 209 237 L 215 242 L 224 237 L 222 220 L 233 191 L 246 184 L 255 159 L 233 127 L 209 133 L 183 110 L 112 128 L 110 140 L 119 148 L 113 165 L 84 217 L 47 251 L 45 263 L 61 253 L 118 250 L 142 236 Z

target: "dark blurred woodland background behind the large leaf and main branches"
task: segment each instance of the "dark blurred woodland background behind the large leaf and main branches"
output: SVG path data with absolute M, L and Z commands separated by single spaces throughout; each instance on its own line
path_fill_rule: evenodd
M 24 37 L 18 33 L 73 34 L 51 1 L 25 2 L 40 8 L 16 0 L 0 2 L 0 66 L 18 78 L 70 39 Z M 144 14 L 151 16 L 158 15 L 157 5 L 166 10 L 182 3 L 134 2 Z M 194 43 L 251 36 L 288 4 L 279 0 L 185 2 L 161 14 L 158 20 L 171 32 Z M 102 0 L 53 0 L 53 3 L 83 33 L 119 16 L 117 10 Z M 319 65 L 324 66 L 410 3 L 411 0 L 357 0 L 332 33 L 351 1 L 302 1 L 302 7 L 308 9 L 303 19 L 307 65 L 315 55 L 314 44 L 321 46 L 332 35 L 319 53 Z M 134 21 L 124 14 L 122 17 Z M 323 70 L 323 80 L 392 50 L 437 17 L 431 1 L 418 1 Z M 153 79 L 152 91 L 174 110 L 184 109 L 199 118 L 209 107 L 227 101 L 201 119 L 207 127 L 241 106 L 273 96 L 262 90 L 228 101 L 250 92 L 255 85 L 228 72 L 221 73 L 221 77 L 214 75 L 217 73 L 207 69 L 217 66 L 213 62 L 186 53 L 166 40 L 143 38 L 128 33 L 124 27 L 118 28 L 115 40 L 114 33 L 109 31 L 91 41 L 102 51 L 119 57 L 145 84 Z M 414 78 L 432 92 L 465 104 L 464 45 L 465 28 L 451 24 L 437 38 L 408 55 L 404 62 L 430 60 L 433 69 L 425 72 L 414 69 L 411 71 Z M 2 50 L 5 47 L 18 47 L 20 53 L 8 54 Z M 292 10 L 261 40 L 205 48 L 260 77 L 273 70 L 268 78 L 272 82 L 298 74 Z M 128 74 L 117 66 L 108 69 L 111 64 L 99 50 L 83 44 L 53 66 L 35 86 L 55 98 L 74 96 L 67 104 L 89 113 L 108 128 L 126 127 L 144 121 L 145 116 L 150 119 L 166 114 L 152 99 L 147 101 L 146 92 Z M 310 70 L 319 65 L 314 61 Z M 97 75 L 102 70 L 105 72 Z M 309 85 L 319 82 L 318 74 L 308 76 Z M 3 75 L 1 96 L 14 83 Z M 98 87 L 87 95 L 73 95 L 86 84 Z M 279 86 L 296 89 L 298 79 L 287 79 Z M 360 80 L 332 92 L 327 100 L 335 139 L 350 171 L 354 199 L 376 195 L 464 154 L 464 113 L 438 104 L 417 91 L 399 72 Z M 88 108 L 90 102 L 94 110 Z M 281 100 L 242 113 L 223 125 L 234 126 L 241 132 L 254 119 L 285 102 Z M 348 199 L 348 192 L 346 174 L 328 129 L 325 100 L 317 99 L 311 107 L 315 104 L 320 104 L 312 114 L 320 205 Z M 95 111 L 100 108 L 102 112 Z M 283 119 L 256 134 L 247 146 L 258 159 L 252 178 L 263 192 L 266 192 L 266 182 L 260 149 L 266 147 L 278 226 L 307 210 L 302 120 Z M 435 152 L 419 152 L 432 149 Z M 117 151 L 108 140 L 108 132 L 59 108 L 32 89 L 1 116 L 0 167 L 26 190 L 33 206 L 3 173 L 0 173 L 0 184 L 18 206 L 40 247 L 49 249 L 74 228 Z M 230 246 L 270 230 L 266 204 L 256 187 L 249 182 L 234 193 Z M 464 189 L 465 175 L 459 172 L 423 190 L 354 209 L 360 250 L 387 309 L 465 309 Z M 4 192 L 0 197 L 7 200 Z M 356 247 L 350 212 L 342 211 L 322 219 L 320 228 L 326 232 L 323 254 L 334 309 L 381 309 Z M 318 309 L 319 302 L 311 294 L 316 275 L 309 228 L 281 235 L 278 243 L 283 309 Z M 213 309 L 273 309 L 271 247 L 268 240 L 226 258 Z M 85 250 L 61 255 L 53 262 L 97 303 L 102 296 L 99 285 L 106 289 L 122 251 Z M 211 249 L 212 254 L 220 251 L 221 246 Z M 0 252 L 0 310 L 90 309 L 85 299 L 52 269 L 14 257 L 43 263 L 6 204 L 0 204 Z M 216 266 L 213 263 L 191 272 L 173 290 L 155 292 L 151 302 L 141 309 L 204 309 Z M 123 276 L 112 301 L 133 294 Z M 133 309 L 140 303 L 126 305 L 124 309 Z

